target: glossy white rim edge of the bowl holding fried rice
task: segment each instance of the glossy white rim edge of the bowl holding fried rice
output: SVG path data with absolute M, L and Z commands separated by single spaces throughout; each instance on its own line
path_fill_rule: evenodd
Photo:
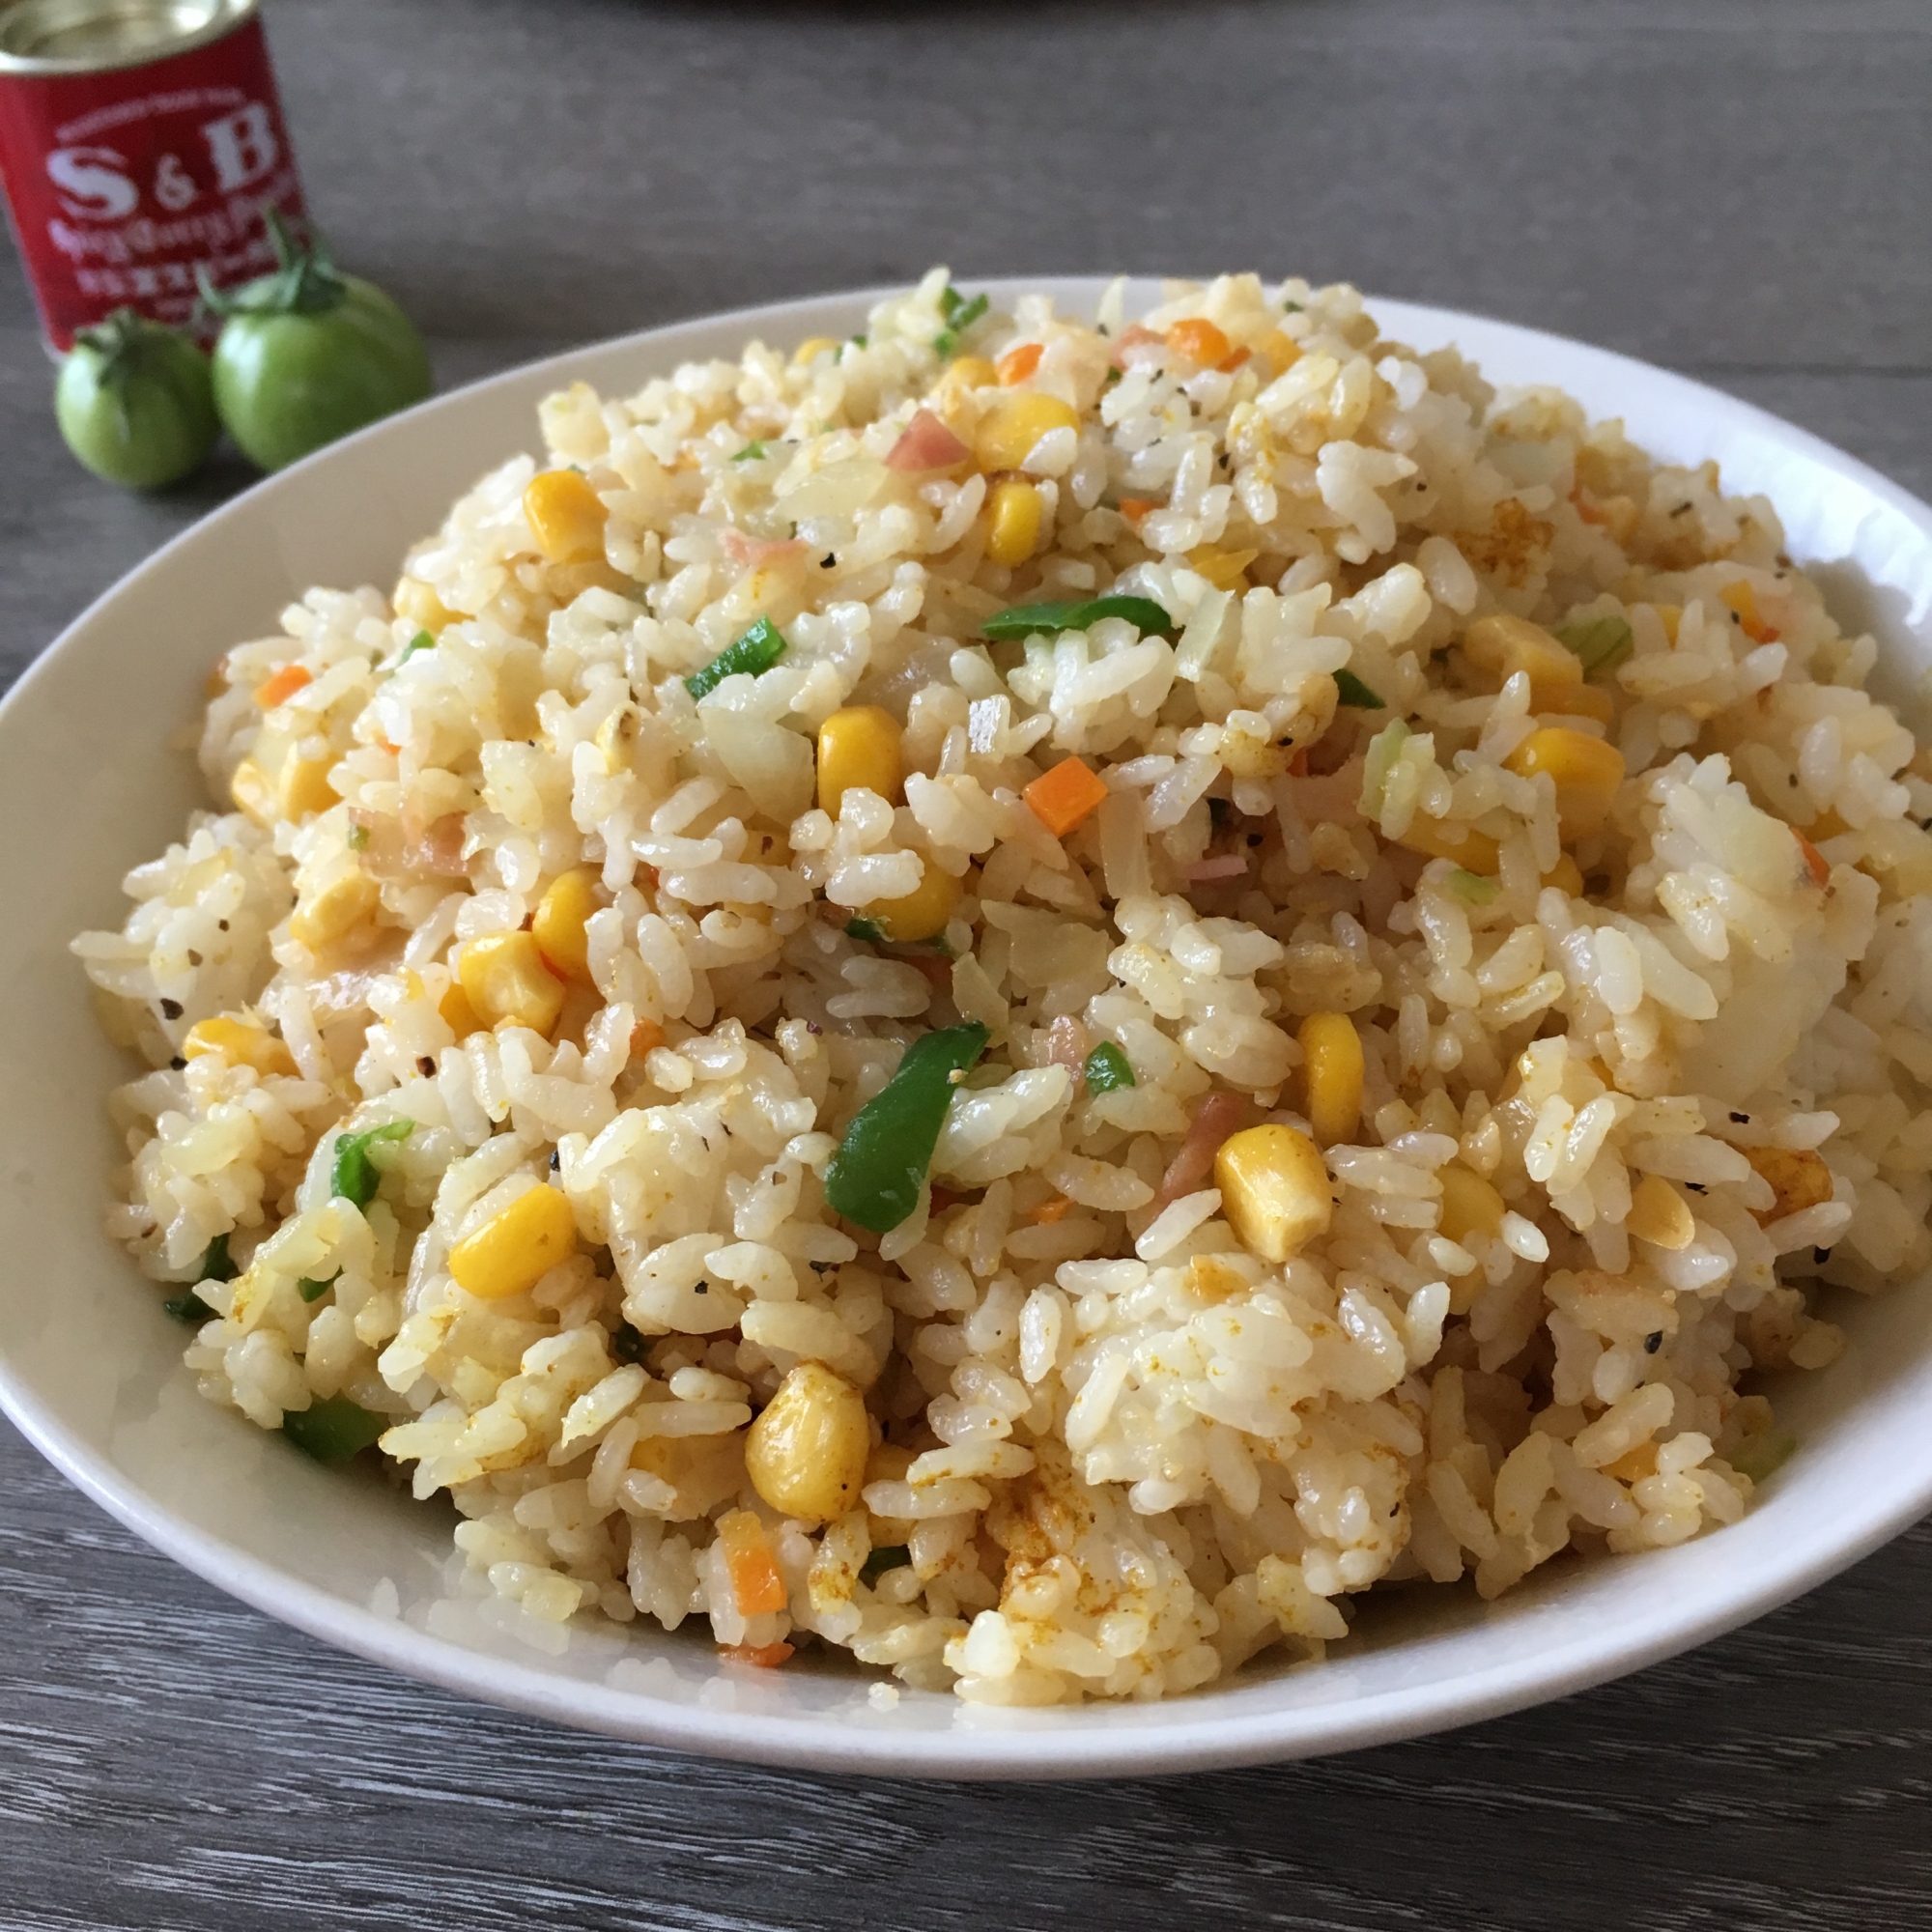
M 972 280 L 995 299 L 1009 299 L 1028 290 L 1049 290 L 1063 299 L 1092 303 L 1113 278 L 1095 274 L 974 276 Z M 554 355 L 516 363 L 435 396 L 402 415 L 373 423 L 354 437 L 253 483 L 174 535 L 95 597 L 33 659 L 0 699 L 0 728 L 12 723 L 15 711 L 33 701 L 41 678 L 50 676 L 54 659 L 79 634 L 110 607 L 139 597 L 149 576 L 160 572 L 176 554 L 193 549 L 222 522 L 253 514 L 263 497 L 280 489 L 288 477 L 311 475 L 340 462 L 344 452 L 383 439 L 398 423 L 421 421 L 440 412 L 456 415 L 481 396 L 514 384 L 531 384 L 539 379 L 554 379 L 562 384 L 572 375 L 582 375 L 591 357 L 649 357 L 661 350 L 667 361 L 672 361 L 686 354 L 678 346 L 680 338 L 699 328 L 742 330 L 750 338 L 767 328 L 811 327 L 813 321 L 825 319 L 833 311 L 864 311 L 875 301 L 902 294 L 906 286 L 898 282 L 883 288 L 833 290 L 609 336 L 560 350 Z M 1146 278 L 1130 278 L 1130 286 L 1150 288 L 1151 284 Z M 1918 541 L 1932 549 L 1932 508 L 1859 458 L 1756 404 L 1621 352 L 1596 348 L 1549 330 L 1434 303 L 1364 296 L 1364 305 L 1391 332 L 1399 332 L 1408 321 L 1426 321 L 1447 328 L 1451 340 L 1480 334 L 1492 342 L 1520 344 L 1524 350 L 1540 348 L 1565 357 L 1582 355 L 1607 377 L 1642 383 L 1652 390 L 1662 384 L 1665 398 L 1694 404 L 1700 412 L 1710 412 L 1716 406 L 1719 415 L 1737 429 L 1756 431 L 1806 464 L 1822 466 L 1845 483 L 1864 489 L 1899 514 Z M 1159 1729 L 1115 1727 L 1109 1731 L 1103 1721 L 1092 1721 L 1092 1716 L 1090 1721 L 1061 1723 L 1059 1727 L 862 1729 L 810 1718 L 713 1710 L 645 1692 L 593 1692 L 580 1681 L 537 1665 L 468 1650 L 400 1619 L 330 1596 L 321 1586 L 278 1569 L 249 1549 L 182 1520 L 158 1499 L 126 1482 L 106 1457 L 79 1439 L 50 1405 L 41 1401 L 35 1387 L 6 1354 L 0 1354 L 0 1410 L 75 1488 L 155 1549 L 253 1609 L 408 1677 L 458 1690 L 481 1702 L 549 1718 L 574 1729 L 599 1731 L 701 1756 L 813 1772 L 949 1779 L 1150 1776 L 1260 1764 L 1393 1743 L 1505 1716 L 1642 1669 L 1737 1629 L 1857 1563 L 1932 1509 L 1932 1464 L 1926 1464 L 1917 1474 L 1909 1470 L 1901 1474 L 1899 1482 L 1882 1495 L 1866 1497 L 1864 1507 L 1839 1513 L 1828 1534 L 1818 1536 L 1774 1571 L 1748 1578 L 1731 1575 L 1721 1588 L 1708 1592 L 1689 1607 L 1675 1604 L 1656 1607 L 1650 1615 L 1631 1619 L 1621 1633 L 1609 1636 L 1592 1633 L 1544 1644 L 1528 1662 L 1505 1656 L 1501 1662 L 1464 1669 L 1422 1687 L 1410 1685 L 1333 1704 L 1316 1702 L 1260 1712 L 1229 1712 L 1221 1708 L 1213 1690 L 1206 1690 L 1163 1704 L 1161 1710 L 1171 1721 Z M 1617 1561 L 1631 1565 L 1644 1559 L 1621 1557 Z M 1236 1687 L 1240 1687 L 1240 1679 L 1229 1689 Z M 1109 1708 L 1084 1706 L 1088 1714 Z M 1059 1710 L 1066 1714 L 1078 1712 L 1082 1706 Z M 1190 1716 L 1190 1710 L 1198 1716 Z M 1051 1718 L 1053 1714 L 1036 1716 Z

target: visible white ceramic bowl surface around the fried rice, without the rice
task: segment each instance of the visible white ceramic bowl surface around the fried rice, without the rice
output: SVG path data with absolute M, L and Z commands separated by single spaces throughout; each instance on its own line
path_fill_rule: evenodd
M 1018 292 L 1007 284 L 1005 290 Z M 1045 284 L 1092 313 L 1097 280 Z M 1001 284 L 995 284 L 995 294 Z M 1138 305 L 1153 288 L 1136 290 Z M 655 1745 L 813 1770 L 951 1777 L 1171 1772 L 1410 1737 L 1615 1677 L 1810 1588 L 1932 1507 L 1932 1285 L 1847 1310 L 1851 1349 L 1783 1395 L 1803 1447 L 1735 1528 L 1679 1549 L 1555 1565 L 1499 1604 L 1370 1602 L 1362 1634 L 1298 1671 L 1169 1704 L 981 1712 L 906 1692 L 875 1710 L 856 1669 L 724 1665 L 703 1633 L 568 1633 L 545 1654 L 444 1598 L 450 1517 L 332 1474 L 195 1395 L 182 1329 L 100 1233 L 114 1157 L 102 1099 L 124 1070 L 95 1032 L 68 939 L 122 916 L 116 883 L 180 831 L 189 759 L 164 738 L 209 663 L 274 628 L 309 583 L 388 583 L 406 543 L 487 466 L 537 446 L 535 404 L 585 377 L 628 392 L 750 336 L 862 327 L 869 296 L 659 328 L 479 383 L 261 483 L 106 593 L 0 709 L 0 1403 L 102 1509 L 243 1602 L 452 1689 Z M 1932 663 L 1932 510 L 1747 404 L 1602 350 L 1376 303 L 1416 348 L 1459 342 L 1501 383 L 1557 383 L 1679 462 L 1762 491 L 1841 620 L 1884 643 L 1889 690 Z M 1886 682 L 1886 680 L 1880 680 Z

